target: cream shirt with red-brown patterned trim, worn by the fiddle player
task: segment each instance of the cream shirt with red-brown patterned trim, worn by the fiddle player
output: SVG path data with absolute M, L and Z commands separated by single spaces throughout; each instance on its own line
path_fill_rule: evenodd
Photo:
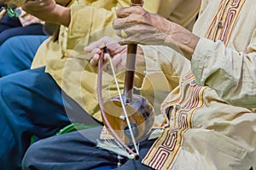
M 191 63 L 195 77 L 185 68 L 161 105 L 170 127 L 144 164 L 177 170 L 247 170 L 255 164 L 255 7 L 254 0 L 202 0 L 194 26 L 201 37 Z M 218 19 L 223 25 L 217 30 Z

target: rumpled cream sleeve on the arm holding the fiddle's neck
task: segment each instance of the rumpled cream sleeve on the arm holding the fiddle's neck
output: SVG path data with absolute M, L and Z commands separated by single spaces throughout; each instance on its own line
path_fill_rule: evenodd
M 201 38 L 191 61 L 196 82 L 214 89 L 231 105 L 256 108 L 255 32 L 247 52 Z

